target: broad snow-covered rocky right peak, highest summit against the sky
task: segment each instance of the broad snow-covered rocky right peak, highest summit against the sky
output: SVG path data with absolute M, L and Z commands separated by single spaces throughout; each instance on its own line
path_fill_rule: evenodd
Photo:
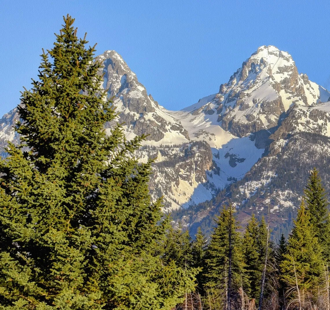
M 291 55 L 274 46 L 262 46 L 220 86 L 212 103 L 222 128 L 243 137 L 276 127 L 293 104 L 310 106 L 328 98 L 327 90 L 298 74 Z M 207 105 L 200 112 L 212 114 Z

